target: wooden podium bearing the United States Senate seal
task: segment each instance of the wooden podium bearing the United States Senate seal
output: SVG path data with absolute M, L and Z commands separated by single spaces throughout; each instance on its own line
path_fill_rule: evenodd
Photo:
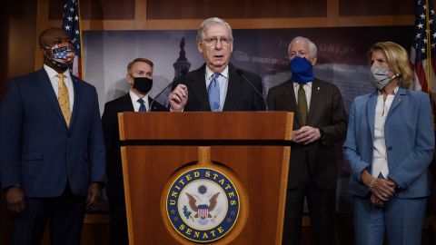
M 119 113 L 130 244 L 282 244 L 292 113 Z

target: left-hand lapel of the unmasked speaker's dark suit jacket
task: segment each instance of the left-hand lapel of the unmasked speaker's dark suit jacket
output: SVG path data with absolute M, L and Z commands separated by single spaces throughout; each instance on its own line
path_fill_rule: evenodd
M 209 99 L 207 97 L 206 82 L 204 80 L 205 70 L 206 64 L 203 64 L 200 69 L 193 72 L 193 78 L 190 83 L 192 92 L 190 91 L 190 93 L 193 93 L 193 96 L 197 98 L 198 103 L 201 104 L 201 108 L 205 111 L 211 111 L 211 105 L 209 104 Z M 189 96 L 191 96 L 191 94 Z

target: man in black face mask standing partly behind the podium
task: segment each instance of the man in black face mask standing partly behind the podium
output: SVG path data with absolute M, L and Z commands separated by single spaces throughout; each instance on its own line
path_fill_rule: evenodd
M 136 58 L 127 65 L 127 82 L 130 91 L 124 96 L 104 105 L 102 117 L 107 162 L 107 195 L 111 216 L 111 244 L 129 244 L 124 201 L 123 168 L 121 162 L 118 113 L 123 112 L 167 112 L 168 108 L 154 102 L 149 92 L 153 86 L 152 61 Z

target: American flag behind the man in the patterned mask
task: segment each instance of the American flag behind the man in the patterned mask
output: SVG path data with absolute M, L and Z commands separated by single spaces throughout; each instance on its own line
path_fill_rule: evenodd
M 70 71 L 80 79 L 83 78 L 82 67 L 82 30 L 80 29 L 79 0 L 66 0 L 64 5 L 64 19 L 62 29 L 74 44 L 75 58 Z

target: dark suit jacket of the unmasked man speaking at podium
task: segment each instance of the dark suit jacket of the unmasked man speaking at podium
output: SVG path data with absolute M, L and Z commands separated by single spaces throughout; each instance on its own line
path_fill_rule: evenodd
M 229 85 L 225 96 L 223 111 L 264 111 L 265 105 L 260 94 L 255 93 L 253 87 L 243 77 L 236 73 L 238 68 L 229 64 Z M 183 83 L 188 87 L 188 102 L 184 112 L 210 112 L 211 105 L 207 96 L 205 82 L 206 64 L 199 69 L 180 77 L 173 88 Z M 244 76 L 262 93 L 262 79 L 259 75 L 243 71 Z

